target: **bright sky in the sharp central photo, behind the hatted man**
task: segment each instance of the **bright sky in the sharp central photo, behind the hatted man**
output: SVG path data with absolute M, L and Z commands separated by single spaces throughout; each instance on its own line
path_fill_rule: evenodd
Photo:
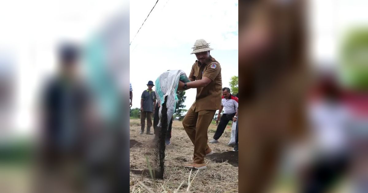
M 222 69 L 223 87 L 229 87 L 231 76 L 238 76 L 237 2 L 159 0 L 137 36 L 139 27 L 156 0 L 130 2 L 132 108 L 140 108 L 146 84 L 148 81 L 155 82 L 163 72 L 181 69 L 189 75 L 196 60 L 195 55 L 190 53 L 197 39 L 210 43 L 213 48 L 210 54 Z M 195 101 L 195 95 L 196 89 L 186 91 L 186 109 Z

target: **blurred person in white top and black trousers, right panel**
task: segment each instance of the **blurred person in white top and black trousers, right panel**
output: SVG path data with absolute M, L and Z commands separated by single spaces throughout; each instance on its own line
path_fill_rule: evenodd
M 301 192 L 328 192 L 347 172 L 350 115 L 336 81 L 333 75 L 325 75 L 319 96 L 309 108 L 314 157 L 303 176 Z

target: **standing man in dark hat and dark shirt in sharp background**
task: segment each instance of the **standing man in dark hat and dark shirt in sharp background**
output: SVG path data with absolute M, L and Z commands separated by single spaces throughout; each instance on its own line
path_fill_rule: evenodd
M 144 133 L 145 127 L 145 119 L 147 118 L 147 135 L 153 135 L 151 133 L 152 126 L 152 112 L 155 111 L 156 106 L 156 93 L 152 90 L 153 85 L 152 81 L 148 81 L 147 83 L 148 89 L 142 92 L 141 96 L 141 133 Z

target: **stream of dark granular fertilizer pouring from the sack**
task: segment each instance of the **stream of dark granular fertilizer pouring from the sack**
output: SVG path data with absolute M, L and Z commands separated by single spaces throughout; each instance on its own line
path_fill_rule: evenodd
M 154 168 L 157 171 L 157 175 L 155 176 L 158 179 L 163 179 L 163 174 L 165 171 L 165 137 L 167 132 L 167 107 L 166 107 L 167 96 L 165 97 L 165 101 L 162 104 L 161 110 L 161 128 L 158 127 L 158 140 L 156 140 L 156 150 L 155 152 L 155 162 Z

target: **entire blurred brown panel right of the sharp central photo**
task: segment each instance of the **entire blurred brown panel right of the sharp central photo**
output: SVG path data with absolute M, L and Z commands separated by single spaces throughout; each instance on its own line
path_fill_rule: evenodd
M 239 192 L 368 192 L 367 1 L 239 3 Z

